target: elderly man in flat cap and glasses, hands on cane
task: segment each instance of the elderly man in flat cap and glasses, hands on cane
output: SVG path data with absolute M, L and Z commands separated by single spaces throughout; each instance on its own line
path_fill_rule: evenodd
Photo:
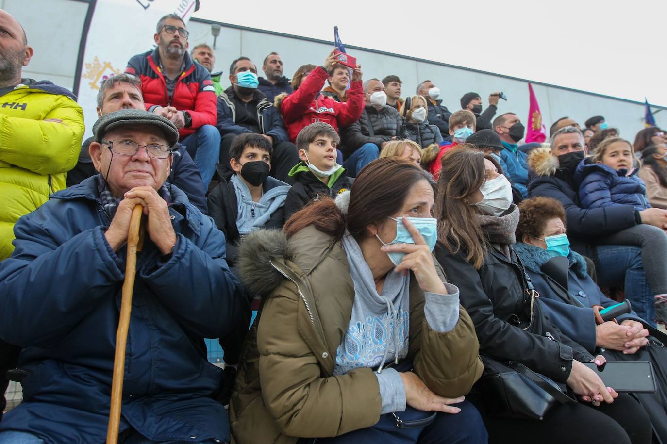
M 204 337 L 225 335 L 247 301 L 209 217 L 165 183 L 175 125 L 125 109 L 93 127 L 99 175 L 51 195 L 15 225 L 0 263 L 0 337 L 23 347 L 23 403 L 0 443 L 105 441 L 131 212 L 143 206 L 127 338 L 121 443 L 229 441 L 214 401 L 222 370 Z

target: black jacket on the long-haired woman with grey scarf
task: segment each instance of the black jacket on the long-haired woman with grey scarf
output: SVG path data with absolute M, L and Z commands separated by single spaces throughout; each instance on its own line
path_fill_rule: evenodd
M 442 243 L 434 253 L 460 289 L 461 304 L 475 324 L 480 353 L 519 361 L 564 383 L 570 377 L 572 359 L 588 362 L 592 356 L 549 322 L 540 299 L 530 291 L 532 283 L 519 257 L 514 249 L 510 251 L 511 260 L 489 247 L 479 270 L 466 261 L 464 253 L 453 255 Z

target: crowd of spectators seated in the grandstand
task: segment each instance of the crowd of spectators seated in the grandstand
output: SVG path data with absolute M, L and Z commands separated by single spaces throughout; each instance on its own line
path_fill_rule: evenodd
M 0 389 L 23 385 L 0 444 L 105 441 L 135 205 L 119 442 L 667 441 L 662 129 L 562 117 L 526 144 L 499 91 L 450 111 L 334 51 L 291 79 L 239 55 L 225 79 L 177 15 L 154 43 L 99 85 L 83 141 L 0 10 Z M 602 321 L 610 297 L 632 310 Z M 654 364 L 654 395 L 584 365 L 624 356 Z M 499 413 L 488 357 L 578 402 Z

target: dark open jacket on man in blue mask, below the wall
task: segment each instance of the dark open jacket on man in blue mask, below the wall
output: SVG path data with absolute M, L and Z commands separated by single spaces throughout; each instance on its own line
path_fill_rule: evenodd
M 215 127 L 221 135 L 252 133 L 253 131 L 236 123 L 236 107 L 239 99 L 232 87 L 217 98 L 217 123 Z M 289 141 L 285 122 L 278 109 L 269 102 L 261 91 L 255 91 L 253 101 L 257 102 L 257 123 L 261 134 L 273 137 L 273 145 Z

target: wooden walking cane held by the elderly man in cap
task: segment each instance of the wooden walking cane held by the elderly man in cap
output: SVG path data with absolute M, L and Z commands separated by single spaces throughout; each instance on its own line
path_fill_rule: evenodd
M 125 347 L 127 345 L 127 330 L 129 329 L 129 315 L 132 311 L 132 291 L 134 277 L 137 273 L 137 251 L 143 246 L 143 230 L 141 230 L 141 215 L 143 206 L 136 205 L 132 210 L 127 233 L 127 259 L 125 261 L 125 281 L 121 299 L 121 315 L 116 331 L 116 354 L 113 358 L 113 379 L 111 380 L 111 408 L 109 409 L 109 425 L 107 427 L 107 444 L 118 442 L 118 428 L 121 421 L 121 402 L 123 398 L 123 373 L 125 373 Z

